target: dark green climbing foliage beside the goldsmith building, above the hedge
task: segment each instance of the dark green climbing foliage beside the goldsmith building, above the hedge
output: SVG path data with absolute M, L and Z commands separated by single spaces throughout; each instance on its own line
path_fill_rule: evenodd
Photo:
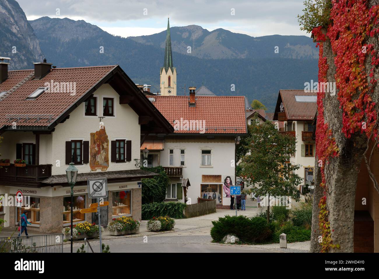
M 143 178 L 142 181 L 142 203 L 149 204 L 151 202 L 163 202 L 166 198 L 167 185 L 169 177 L 162 166 L 155 168 L 144 168 L 145 171 L 155 172 L 158 175 L 153 178 Z

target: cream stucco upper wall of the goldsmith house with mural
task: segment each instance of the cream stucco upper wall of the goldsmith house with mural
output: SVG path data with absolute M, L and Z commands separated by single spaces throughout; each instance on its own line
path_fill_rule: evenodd
M 52 164 L 52 175 L 66 174 L 66 141 L 81 139 L 90 140 L 90 133 L 100 129 L 98 116 L 103 114 L 103 97 L 114 98 L 114 115 L 102 119 L 109 140 L 109 168 L 107 171 L 136 169 L 133 159 L 140 158 L 140 125 L 138 114 L 129 105 L 119 104 L 119 94 L 113 88 L 104 84 L 94 93 L 97 97 L 97 116 L 85 116 L 85 103 L 81 103 L 65 122 L 58 124 L 50 135 L 40 135 L 39 163 Z M 11 163 L 16 159 L 17 143 L 35 143 L 36 136 L 32 132 L 5 132 L 0 147 L 1 158 L 9 158 Z M 125 163 L 111 162 L 111 141 L 126 139 L 132 141 L 132 161 Z M 57 162 L 59 160 L 59 163 Z M 60 166 L 58 166 L 60 165 Z M 75 165 L 79 172 L 91 172 L 89 164 Z M 97 170 L 101 171 L 101 170 Z

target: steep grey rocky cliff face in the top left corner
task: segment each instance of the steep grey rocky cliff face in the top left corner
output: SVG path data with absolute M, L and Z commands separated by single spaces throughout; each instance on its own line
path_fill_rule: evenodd
M 0 0 L 0 56 L 12 59 L 9 69 L 32 69 L 43 54 L 33 28 L 20 5 L 14 0 Z

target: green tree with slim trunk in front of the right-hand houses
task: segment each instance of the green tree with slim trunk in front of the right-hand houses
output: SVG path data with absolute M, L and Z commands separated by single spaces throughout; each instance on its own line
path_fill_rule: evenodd
M 256 196 L 285 196 L 296 201 L 298 185 L 302 179 L 293 172 L 300 165 L 291 165 L 290 154 L 296 151 L 296 139 L 293 136 L 279 133 L 271 122 L 251 124 L 247 138 L 248 152 L 242 157 L 241 176 L 251 187 L 247 193 Z M 267 201 L 268 203 L 268 201 Z M 269 223 L 270 207 L 267 207 Z

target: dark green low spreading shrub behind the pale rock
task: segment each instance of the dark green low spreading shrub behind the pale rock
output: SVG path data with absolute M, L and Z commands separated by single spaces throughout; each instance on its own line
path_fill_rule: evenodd
M 255 216 L 225 216 L 212 221 L 211 237 L 221 242 L 226 235 L 234 235 L 244 243 L 259 243 L 271 237 L 274 227 L 268 225 L 266 219 Z

